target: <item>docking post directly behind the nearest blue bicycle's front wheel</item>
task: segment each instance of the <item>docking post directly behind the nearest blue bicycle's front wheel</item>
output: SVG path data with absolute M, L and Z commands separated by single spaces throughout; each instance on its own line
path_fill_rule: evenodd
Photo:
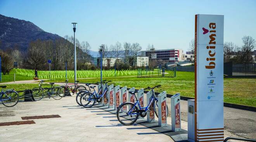
M 147 104 L 150 103 L 152 98 L 153 98 L 152 91 L 147 92 Z M 147 122 L 155 122 L 154 101 L 149 106 L 149 111 L 147 111 Z

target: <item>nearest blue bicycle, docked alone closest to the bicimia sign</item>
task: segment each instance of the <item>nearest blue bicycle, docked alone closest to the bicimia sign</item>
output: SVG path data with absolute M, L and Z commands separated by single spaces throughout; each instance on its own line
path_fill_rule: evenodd
M 153 88 L 147 87 L 144 90 L 152 91 L 152 98 L 150 98 L 149 104 L 146 107 L 141 107 L 140 103 L 135 95 L 138 91 L 130 91 L 129 93 L 135 96 L 135 103 L 125 102 L 118 107 L 117 118 L 118 121 L 123 125 L 132 125 L 138 119 L 138 116 L 145 117 L 147 115 L 147 111 L 150 113 L 156 113 L 158 117 L 158 105 L 157 105 L 157 96 L 155 95 L 154 88 L 159 88 L 161 85 L 155 86 Z M 166 105 L 166 116 L 168 116 L 168 106 Z

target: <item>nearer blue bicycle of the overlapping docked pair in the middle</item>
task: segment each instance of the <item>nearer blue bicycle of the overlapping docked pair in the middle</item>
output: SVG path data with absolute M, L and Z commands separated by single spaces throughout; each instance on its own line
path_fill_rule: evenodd
M 106 80 L 104 80 L 104 81 L 100 82 L 99 84 L 101 84 L 101 86 L 103 85 L 103 83 L 105 83 L 106 88 L 104 89 L 104 91 L 102 90 L 102 88 L 100 88 L 98 90 L 98 93 L 96 93 L 96 91 L 94 89 L 96 86 L 90 86 L 90 88 L 93 89 L 93 93 L 90 91 L 81 91 L 81 97 L 80 97 L 81 105 L 85 108 L 90 108 L 96 103 L 96 101 L 98 103 L 102 102 L 103 96 L 105 96 L 104 102 L 107 102 L 108 101 L 107 100 L 108 99 L 107 98 L 107 91 L 108 91 L 107 83 L 109 83 L 109 82 L 111 82 L 111 81 L 106 82 Z

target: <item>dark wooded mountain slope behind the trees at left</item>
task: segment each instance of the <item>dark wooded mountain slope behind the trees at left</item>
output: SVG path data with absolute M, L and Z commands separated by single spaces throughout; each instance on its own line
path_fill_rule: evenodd
M 55 40 L 59 38 L 62 37 L 45 32 L 32 22 L 0 14 L 0 49 L 5 50 L 15 46 L 21 51 L 26 51 L 29 42 L 36 39 Z

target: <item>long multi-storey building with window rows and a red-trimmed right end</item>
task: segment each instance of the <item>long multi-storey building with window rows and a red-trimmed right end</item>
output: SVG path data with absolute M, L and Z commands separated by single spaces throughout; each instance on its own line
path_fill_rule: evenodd
M 149 60 L 158 60 L 163 62 L 179 62 L 182 61 L 182 49 L 164 49 L 164 50 L 155 50 L 150 49 L 149 51 L 142 51 L 142 56 L 149 57 Z

